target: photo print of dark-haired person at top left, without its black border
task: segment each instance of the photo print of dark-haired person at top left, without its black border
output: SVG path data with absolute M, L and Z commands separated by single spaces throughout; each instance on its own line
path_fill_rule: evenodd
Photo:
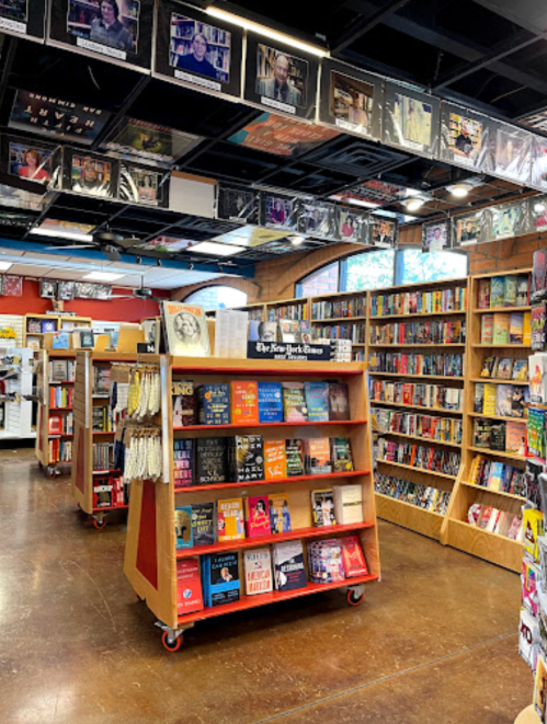
M 138 51 L 140 0 L 69 0 L 67 32 L 116 50 Z

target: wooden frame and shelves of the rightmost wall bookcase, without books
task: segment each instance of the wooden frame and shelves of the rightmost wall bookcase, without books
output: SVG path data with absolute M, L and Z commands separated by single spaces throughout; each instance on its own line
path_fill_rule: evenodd
M 470 277 L 469 287 L 469 314 L 468 314 L 468 334 L 467 334 L 467 350 L 466 350 L 466 399 L 465 399 L 465 422 L 464 422 L 464 439 L 461 446 L 461 469 L 454 487 L 454 494 L 451 504 L 443 521 L 441 531 L 441 541 L 445 544 L 452 545 L 459 550 L 471 553 L 478 558 L 482 558 L 491 563 L 521 573 L 523 543 L 515 541 L 506 536 L 508 526 L 502 527 L 500 532 L 492 532 L 479 526 L 472 526 L 467 522 L 468 509 L 472 504 L 491 506 L 511 516 L 516 516 L 521 513 L 524 497 L 517 494 L 505 491 L 497 491 L 486 486 L 477 485 L 471 482 L 471 469 L 474 459 L 477 456 L 482 456 L 486 460 L 510 464 L 513 468 L 524 470 L 525 456 L 518 452 L 508 452 L 506 450 L 492 450 L 477 446 L 475 443 L 474 427 L 477 421 L 493 421 L 494 423 L 517 423 L 524 428 L 526 427 L 526 417 L 513 416 L 512 414 L 486 414 L 485 412 L 477 411 L 479 404 L 479 395 L 477 394 L 477 386 L 481 383 L 491 384 L 491 390 L 495 389 L 498 397 L 499 389 L 505 388 L 508 384 L 514 384 L 518 390 L 518 397 L 524 394 L 526 382 L 522 380 L 512 381 L 511 379 L 499 379 L 495 377 L 481 377 L 485 359 L 489 356 L 497 356 L 499 358 L 526 359 L 531 352 L 529 344 L 482 344 L 481 343 L 481 324 L 486 313 L 508 313 L 518 311 L 528 312 L 531 310 L 529 301 L 523 306 L 495 306 L 492 308 L 479 307 L 479 289 L 483 287 L 488 280 L 491 281 L 494 277 L 517 276 L 526 277 L 528 279 L 531 268 L 512 269 L 505 272 L 498 272 L 492 274 L 476 275 Z M 495 370 L 494 370 L 495 371 Z M 513 390 L 514 392 L 514 390 Z M 477 398 L 477 400 L 476 400 Z M 498 403 L 497 403 L 498 404 Z M 514 402 L 511 402 L 513 405 Z M 524 406 L 524 405 L 523 405 Z M 513 409 L 513 406 L 512 406 Z M 497 413 L 502 411 L 499 407 Z M 504 412 L 504 410 L 503 410 Z M 511 412 L 511 411 L 510 411 Z M 525 410 L 523 411 L 525 415 Z M 505 535 L 500 535 L 505 533 Z

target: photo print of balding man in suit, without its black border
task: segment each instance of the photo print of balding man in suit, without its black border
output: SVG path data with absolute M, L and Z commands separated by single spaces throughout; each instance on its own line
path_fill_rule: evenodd
M 259 43 L 257 46 L 258 95 L 305 106 L 308 89 L 308 61 Z

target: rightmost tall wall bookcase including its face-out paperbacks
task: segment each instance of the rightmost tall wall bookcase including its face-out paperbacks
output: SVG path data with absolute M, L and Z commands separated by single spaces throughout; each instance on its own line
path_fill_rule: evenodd
M 520 572 L 531 269 L 470 277 L 463 464 L 445 544 Z

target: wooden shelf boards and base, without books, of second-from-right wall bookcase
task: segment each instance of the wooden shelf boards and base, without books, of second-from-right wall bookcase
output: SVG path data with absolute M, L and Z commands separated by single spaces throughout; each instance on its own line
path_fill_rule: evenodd
M 433 320 L 437 321 L 461 321 L 465 322 L 467 319 L 467 310 L 455 309 L 451 311 L 443 312 L 408 312 L 408 313 L 397 313 L 397 314 L 386 314 L 373 315 L 373 299 L 385 296 L 385 295 L 404 295 L 410 292 L 434 292 L 443 291 L 446 289 L 467 289 L 467 278 L 459 279 L 445 279 L 442 281 L 429 281 L 422 284 L 411 284 L 397 287 L 388 287 L 385 289 L 378 289 L 375 291 L 368 292 L 367 301 L 367 343 L 366 343 L 366 359 L 368 360 L 368 374 L 371 376 L 372 382 L 376 380 L 383 380 L 386 382 L 402 382 L 402 383 L 423 383 L 423 384 L 442 384 L 458 388 L 464 390 L 465 377 L 464 376 L 446 376 L 446 375 L 411 375 L 411 374 L 401 374 L 401 372 L 389 372 L 389 371 L 374 371 L 373 365 L 371 364 L 372 355 L 376 352 L 380 353 L 415 353 L 415 354 L 464 354 L 466 345 L 465 343 L 460 344 L 373 344 L 371 342 L 371 334 L 374 331 L 374 327 L 377 325 L 390 324 L 394 322 L 404 323 L 404 322 L 429 322 Z M 465 368 L 465 367 L 464 367 Z M 396 411 L 408 411 L 409 413 L 423 413 L 423 416 L 430 417 L 447 417 L 447 418 L 463 418 L 464 410 L 459 411 L 454 410 L 443 410 L 438 407 L 425 407 L 418 406 L 413 404 L 403 404 L 398 402 L 389 401 L 378 401 L 374 399 L 374 395 L 371 394 L 371 405 L 374 407 L 381 409 L 394 409 Z M 464 421 L 465 428 L 465 421 Z M 417 445 L 423 444 L 428 447 L 441 448 L 443 450 L 454 451 L 460 450 L 460 445 L 457 443 L 446 443 L 441 440 L 434 440 L 430 438 L 424 438 L 421 435 L 407 435 L 402 433 L 395 432 L 384 432 L 375 429 L 374 433 L 378 434 L 384 438 L 392 439 L 397 443 L 414 443 Z M 420 485 L 435 487 L 437 490 L 452 493 L 454 484 L 456 481 L 456 475 L 443 474 L 432 470 L 421 470 L 411 466 L 407 466 L 399 462 L 389 462 L 387 460 L 378 459 L 377 470 L 386 475 L 392 475 L 394 478 L 399 478 L 403 481 L 410 483 L 415 483 Z M 400 501 L 388 495 L 376 493 L 376 507 L 378 518 L 384 518 L 389 522 L 395 522 L 403 528 L 409 528 L 415 532 L 421 533 L 422 536 L 428 536 L 435 540 L 441 538 L 441 528 L 444 520 L 444 515 L 435 513 L 433 510 L 428 510 Z

